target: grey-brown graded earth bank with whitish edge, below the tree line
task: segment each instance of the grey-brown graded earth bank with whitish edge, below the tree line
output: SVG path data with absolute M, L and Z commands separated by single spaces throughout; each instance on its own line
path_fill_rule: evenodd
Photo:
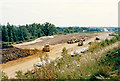
M 66 43 L 69 39 L 89 39 L 91 37 L 96 36 L 96 33 L 73 33 L 67 35 L 53 35 L 53 36 L 44 36 L 40 37 L 32 42 L 24 42 L 21 44 L 14 45 L 15 47 L 22 48 L 22 49 L 41 49 L 42 46 L 45 44 L 56 45 L 61 43 Z

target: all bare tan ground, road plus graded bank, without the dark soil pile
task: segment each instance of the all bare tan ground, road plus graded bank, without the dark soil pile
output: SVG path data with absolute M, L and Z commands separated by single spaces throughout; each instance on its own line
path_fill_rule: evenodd
M 48 37 L 41 37 L 36 39 L 32 42 L 26 42 L 22 44 L 14 45 L 15 47 L 22 48 L 22 49 L 34 49 L 37 48 L 39 50 L 42 49 L 43 45 L 46 43 L 50 44 L 51 50 L 49 53 L 49 59 L 54 60 L 57 57 L 61 56 L 62 49 L 66 47 L 68 49 L 68 52 L 71 53 L 72 51 L 81 51 L 82 49 L 88 47 L 88 42 L 94 41 L 96 35 L 100 37 L 101 40 L 104 40 L 106 38 L 111 39 L 112 36 L 109 36 L 109 32 L 107 33 L 75 33 L 75 34 L 68 34 L 68 35 L 54 35 L 54 36 L 48 36 Z M 77 43 L 75 44 L 67 44 L 66 41 L 72 38 L 78 38 L 81 39 L 82 37 L 85 37 L 86 41 L 84 42 L 84 45 L 79 47 L 77 46 Z M 115 47 L 116 45 L 113 45 Z M 17 60 L 9 61 L 7 63 L 1 64 L 2 71 L 4 71 L 10 78 L 15 77 L 16 71 L 23 71 L 26 72 L 27 70 L 33 69 L 33 65 L 40 61 L 39 59 L 40 54 L 31 55 L 24 58 L 19 58 Z

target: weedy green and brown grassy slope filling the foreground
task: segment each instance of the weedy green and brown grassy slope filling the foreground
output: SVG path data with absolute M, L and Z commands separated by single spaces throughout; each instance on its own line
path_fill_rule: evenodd
M 111 39 L 112 40 L 112 39 Z M 103 41 L 102 41 L 103 42 Z M 100 44 L 101 43 L 97 43 Z M 105 43 L 110 42 L 106 39 Z M 96 43 L 96 42 L 95 42 Z M 120 48 L 109 49 L 106 45 L 96 48 L 82 56 L 71 57 L 63 48 L 62 57 L 46 66 L 23 73 L 16 72 L 17 79 L 115 79 L 119 80 Z M 47 60 L 47 55 L 42 60 Z

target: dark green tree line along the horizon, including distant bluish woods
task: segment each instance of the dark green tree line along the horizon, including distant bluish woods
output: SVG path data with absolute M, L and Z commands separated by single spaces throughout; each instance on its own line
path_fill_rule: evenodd
M 55 27 L 54 24 L 49 22 L 40 24 L 26 24 L 26 25 L 0 25 L 2 29 L 2 41 L 3 42 L 22 42 L 32 40 L 41 36 L 50 36 L 56 34 L 78 33 L 86 30 L 87 32 L 101 31 L 97 28 L 87 27 Z

